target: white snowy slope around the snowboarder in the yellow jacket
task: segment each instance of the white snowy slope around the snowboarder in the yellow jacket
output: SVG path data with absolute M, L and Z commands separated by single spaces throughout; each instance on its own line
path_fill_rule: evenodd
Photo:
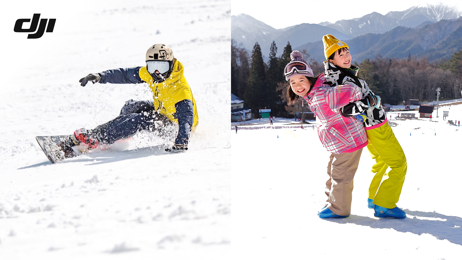
M 0 259 L 226 258 L 231 246 L 229 1 L 2 3 Z M 17 19 L 56 19 L 27 39 Z M 27 23 L 24 24 L 26 28 Z M 144 66 L 169 45 L 197 102 L 188 151 L 140 132 L 123 145 L 51 164 L 35 136 L 115 118 L 145 84 L 79 85 Z

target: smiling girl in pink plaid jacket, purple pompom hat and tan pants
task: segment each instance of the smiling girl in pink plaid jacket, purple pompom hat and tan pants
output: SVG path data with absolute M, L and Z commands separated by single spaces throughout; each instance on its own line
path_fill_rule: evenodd
M 324 74 L 313 76 L 310 65 L 298 51 L 291 54 L 292 61 L 284 70 L 287 86 L 287 103 L 303 97 L 316 115 L 319 140 L 330 155 L 326 182 L 327 204 L 318 212 L 321 218 L 349 217 L 353 192 L 353 177 L 363 147 L 368 143 L 364 124 L 353 117 L 344 117 L 340 109 L 362 99 L 357 87 L 340 85 L 330 87 Z

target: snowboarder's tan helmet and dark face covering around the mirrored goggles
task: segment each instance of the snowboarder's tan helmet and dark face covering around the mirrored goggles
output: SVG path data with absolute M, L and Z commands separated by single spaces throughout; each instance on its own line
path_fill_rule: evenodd
M 169 69 L 168 71 L 161 73 L 161 74 L 149 72 L 149 68 L 150 68 L 149 65 L 152 65 L 152 64 L 147 64 L 148 62 L 151 62 L 151 63 L 152 62 L 153 63 L 168 62 Z M 156 82 L 162 82 L 168 79 L 168 77 L 170 77 L 170 73 L 173 70 L 174 63 L 175 63 L 175 58 L 173 56 L 173 51 L 172 49 L 170 49 L 169 46 L 165 44 L 162 44 L 162 43 L 154 44 L 151 47 L 149 47 L 149 49 L 146 51 L 146 66 L 148 68 L 149 74 L 151 74 L 152 78 Z

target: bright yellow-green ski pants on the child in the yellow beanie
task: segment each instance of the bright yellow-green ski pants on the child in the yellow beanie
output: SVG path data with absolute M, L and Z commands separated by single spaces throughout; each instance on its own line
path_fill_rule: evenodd
M 372 166 L 375 176 L 369 186 L 369 198 L 378 206 L 392 209 L 396 207 L 396 202 L 400 198 L 406 177 L 406 155 L 388 123 L 366 130 L 366 133 L 369 138 L 367 149 L 376 161 Z M 386 173 L 388 167 L 391 170 Z M 382 181 L 383 175 L 386 178 Z

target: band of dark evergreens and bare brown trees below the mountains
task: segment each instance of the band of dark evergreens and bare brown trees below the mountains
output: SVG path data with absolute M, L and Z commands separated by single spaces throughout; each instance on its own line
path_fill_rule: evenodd
M 269 50 L 269 60 L 263 62 L 260 45 L 255 43 L 252 54 L 244 46 L 231 39 L 231 93 L 243 98 L 245 105 L 258 115 L 258 109 L 270 108 L 274 116 L 293 117 L 301 111 L 300 104 L 288 106 L 286 102 L 287 83 L 283 74 L 290 61 L 292 46 L 287 42 L 280 56 L 273 42 Z M 310 59 L 306 50 L 299 50 L 310 63 L 316 75 L 324 72 L 323 64 Z M 354 54 L 353 61 L 354 61 Z M 426 61 L 409 54 L 407 59 L 396 59 L 378 55 L 367 59 L 359 66 L 359 77 L 363 78 L 371 90 L 382 97 L 383 104 L 398 105 L 409 99 L 420 102 L 436 99 L 436 89 L 441 88 L 440 99 L 461 97 L 462 90 L 462 50 L 455 52 L 449 60 Z

